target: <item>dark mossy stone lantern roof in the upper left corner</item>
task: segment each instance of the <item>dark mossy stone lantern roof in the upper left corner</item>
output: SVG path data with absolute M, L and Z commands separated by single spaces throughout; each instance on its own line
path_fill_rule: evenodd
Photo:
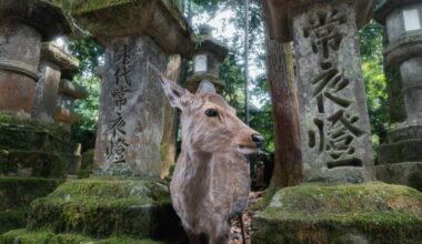
M 18 19 L 34 27 L 43 40 L 73 31 L 70 17 L 54 2 L 49 0 L 2 0 L 0 20 Z

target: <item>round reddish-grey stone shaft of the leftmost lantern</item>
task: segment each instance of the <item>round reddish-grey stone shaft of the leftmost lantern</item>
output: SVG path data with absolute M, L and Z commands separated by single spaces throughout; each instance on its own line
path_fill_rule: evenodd
M 0 22 L 0 111 L 30 113 L 40 45 L 41 34 L 32 27 Z

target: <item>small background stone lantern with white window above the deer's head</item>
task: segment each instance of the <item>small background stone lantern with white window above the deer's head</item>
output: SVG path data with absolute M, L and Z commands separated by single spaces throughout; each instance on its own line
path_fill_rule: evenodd
M 211 81 L 217 90 L 221 92 L 225 82 L 219 79 L 220 64 L 228 55 L 228 49 L 211 37 L 211 27 L 201 26 L 199 41 L 193 53 L 193 74 L 188 78 L 189 91 L 197 91 L 202 80 Z

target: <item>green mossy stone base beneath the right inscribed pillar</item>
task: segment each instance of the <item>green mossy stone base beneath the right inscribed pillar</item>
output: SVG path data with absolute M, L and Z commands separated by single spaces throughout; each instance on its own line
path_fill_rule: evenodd
M 253 243 L 420 243 L 422 194 L 383 183 L 280 190 L 253 217 Z

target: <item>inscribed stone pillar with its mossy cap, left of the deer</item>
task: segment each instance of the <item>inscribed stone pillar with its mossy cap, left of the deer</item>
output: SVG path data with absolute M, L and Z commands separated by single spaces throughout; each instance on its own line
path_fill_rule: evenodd
M 105 45 L 96 174 L 159 176 L 163 93 L 154 70 L 164 73 L 169 53 L 191 52 L 188 29 L 159 0 L 98 3 L 74 18 Z

